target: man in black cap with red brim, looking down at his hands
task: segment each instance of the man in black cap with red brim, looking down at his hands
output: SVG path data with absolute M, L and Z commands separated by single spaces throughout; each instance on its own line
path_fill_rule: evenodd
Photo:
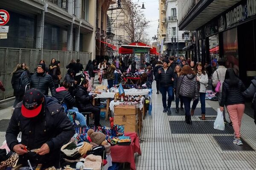
M 21 142 L 18 142 L 20 132 Z M 58 100 L 30 89 L 15 107 L 6 130 L 6 142 L 19 155 L 20 164 L 27 166 L 29 160 L 34 165 L 43 164 L 44 168 L 59 168 L 61 146 L 74 133 L 74 126 Z

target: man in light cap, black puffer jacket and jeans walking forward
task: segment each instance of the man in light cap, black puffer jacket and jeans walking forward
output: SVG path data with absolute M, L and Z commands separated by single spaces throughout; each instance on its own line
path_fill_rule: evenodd
M 160 81 L 160 92 L 162 94 L 163 113 L 171 114 L 171 104 L 173 87 L 176 86 L 176 78 L 172 68 L 168 67 L 168 60 L 163 60 L 163 67 L 158 69 L 157 79 Z M 172 79 L 174 81 L 172 81 Z M 166 93 L 168 93 L 168 101 L 166 105 Z

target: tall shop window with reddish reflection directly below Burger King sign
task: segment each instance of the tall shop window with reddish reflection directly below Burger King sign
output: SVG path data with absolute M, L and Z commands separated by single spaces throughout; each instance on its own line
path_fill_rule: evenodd
M 226 67 L 233 68 L 239 75 L 237 29 L 223 32 L 223 57 L 226 58 Z

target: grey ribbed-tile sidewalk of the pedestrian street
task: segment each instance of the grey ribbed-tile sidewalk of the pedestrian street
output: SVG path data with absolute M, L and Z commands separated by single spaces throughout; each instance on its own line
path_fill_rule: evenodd
M 154 82 L 153 88 L 155 89 Z M 199 102 L 199 109 L 192 116 L 192 125 L 187 125 L 184 112 L 176 114 L 175 109 L 170 115 L 162 112 L 161 94 L 156 94 L 154 89 L 152 115 L 147 115 L 143 120 L 143 132 L 140 137 L 142 155 L 135 155 L 137 170 L 256 169 L 256 125 L 249 107 L 241 125 L 243 142 L 247 142 L 249 146 L 244 144 L 241 147 L 233 144 L 233 128 L 230 125 L 226 125 L 224 131 L 214 130 L 213 122 L 217 115 L 218 102 L 207 101 L 206 121 L 200 119 Z M 172 108 L 175 108 L 175 102 L 172 102 Z M 11 107 L 0 110 L 0 144 L 5 140 L 4 129 L 7 128 L 10 111 Z M 226 117 L 228 118 L 228 115 Z M 101 124 L 109 126 L 109 122 L 103 119 Z M 225 150 L 221 149 L 216 139 L 222 142 Z M 125 169 L 128 167 L 125 165 Z

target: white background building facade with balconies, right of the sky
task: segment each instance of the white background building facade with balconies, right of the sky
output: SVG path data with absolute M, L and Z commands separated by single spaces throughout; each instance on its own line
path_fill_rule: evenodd
M 166 18 L 164 19 L 166 36 L 164 38 L 164 44 L 167 47 L 166 52 L 168 56 L 183 55 L 182 49 L 185 47 L 184 31 L 178 30 L 177 5 L 177 0 L 166 0 Z

